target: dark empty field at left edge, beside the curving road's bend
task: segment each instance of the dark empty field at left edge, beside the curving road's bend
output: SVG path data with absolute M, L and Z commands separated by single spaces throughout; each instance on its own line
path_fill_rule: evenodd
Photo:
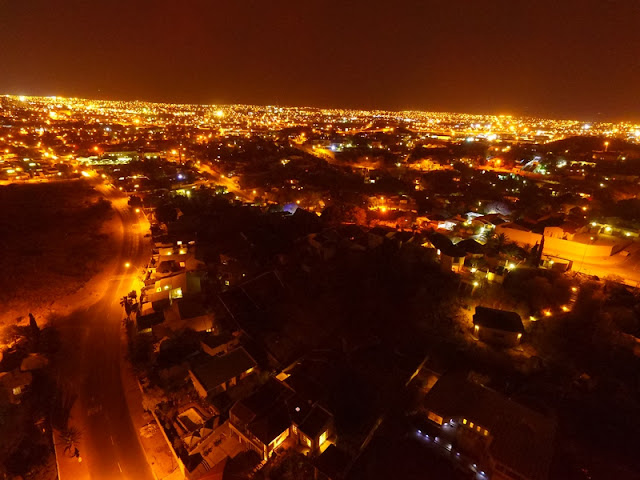
M 0 324 L 36 313 L 98 273 L 113 210 L 82 180 L 0 187 Z

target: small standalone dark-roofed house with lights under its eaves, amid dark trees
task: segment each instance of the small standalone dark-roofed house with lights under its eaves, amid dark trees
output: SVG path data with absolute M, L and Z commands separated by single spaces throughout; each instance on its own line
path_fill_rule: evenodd
M 515 347 L 524 333 L 522 319 L 516 312 L 476 307 L 473 315 L 473 333 L 483 342 Z

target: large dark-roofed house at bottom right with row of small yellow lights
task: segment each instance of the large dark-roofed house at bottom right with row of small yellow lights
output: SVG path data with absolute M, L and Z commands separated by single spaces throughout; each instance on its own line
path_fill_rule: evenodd
M 442 376 L 424 399 L 429 424 L 492 480 L 546 480 L 555 419 L 464 376 Z

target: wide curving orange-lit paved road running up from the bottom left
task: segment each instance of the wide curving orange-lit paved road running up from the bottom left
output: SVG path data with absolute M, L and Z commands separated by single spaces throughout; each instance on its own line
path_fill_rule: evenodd
M 120 248 L 111 259 L 113 272 L 105 276 L 99 300 L 54 321 L 62 343 L 59 378 L 77 395 L 70 424 L 82 431 L 80 453 L 90 478 L 151 480 L 122 387 L 121 359 L 126 347 L 119 303 L 127 292 L 139 290 L 137 275 L 149 258 L 146 222 L 124 199 L 113 193 L 107 197 L 122 220 Z M 126 262 L 131 263 L 129 268 Z

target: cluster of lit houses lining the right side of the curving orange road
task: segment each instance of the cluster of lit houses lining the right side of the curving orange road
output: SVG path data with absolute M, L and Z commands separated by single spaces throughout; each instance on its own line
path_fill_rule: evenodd
M 208 270 L 197 247 L 194 241 L 155 244 L 132 321 L 134 334 L 154 345 L 161 381 L 190 384 L 195 392 L 170 411 L 157 405 L 152 412 L 182 475 L 212 478 L 230 457 L 247 450 L 259 455 L 259 467 L 285 448 L 320 458 L 335 445 L 332 413 L 322 399 L 294 387 L 295 375 L 274 377 L 245 332 L 216 318 L 203 294 Z M 260 300 L 251 298 L 248 288 L 230 288 L 243 278 L 242 268 L 229 271 L 235 263 L 241 262 L 221 254 L 214 281 L 223 282 L 221 303 L 241 316 Z M 185 330 L 197 336 L 197 343 L 176 356 L 172 342 Z M 334 449 L 328 455 L 335 455 Z

